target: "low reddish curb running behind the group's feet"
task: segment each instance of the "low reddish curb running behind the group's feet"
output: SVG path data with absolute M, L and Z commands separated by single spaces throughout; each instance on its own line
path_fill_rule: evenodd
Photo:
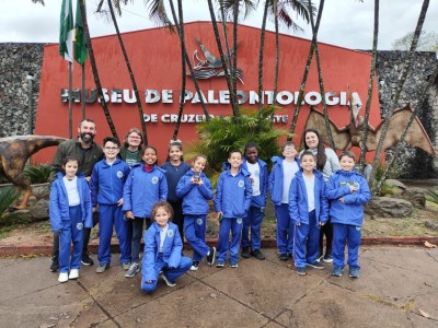
M 208 245 L 217 245 L 218 239 L 208 239 Z M 425 242 L 438 245 L 438 236 L 376 236 L 376 237 L 362 237 L 361 245 L 391 245 L 391 246 L 424 246 Z M 189 248 L 188 244 L 184 244 L 186 249 Z M 97 254 L 99 245 L 91 243 L 89 245 L 89 251 Z M 273 238 L 262 241 L 263 248 L 275 248 L 276 242 Z M 118 253 L 118 244 L 111 245 L 112 253 Z M 3 245 L 0 246 L 0 257 L 5 256 L 21 256 L 21 255 L 51 255 L 51 245 Z

